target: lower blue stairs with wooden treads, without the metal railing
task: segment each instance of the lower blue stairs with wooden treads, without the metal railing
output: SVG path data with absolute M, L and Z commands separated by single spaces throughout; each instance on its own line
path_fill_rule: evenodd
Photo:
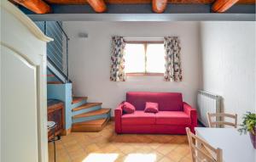
M 73 97 L 73 83 L 61 83 L 50 74 L 47 78 L 48 98 L 65 103 L 66 130 L 102 131 L 110 120 L 111 109 L 102 109 L 102 103 L 89 103 L 87 97 Z

